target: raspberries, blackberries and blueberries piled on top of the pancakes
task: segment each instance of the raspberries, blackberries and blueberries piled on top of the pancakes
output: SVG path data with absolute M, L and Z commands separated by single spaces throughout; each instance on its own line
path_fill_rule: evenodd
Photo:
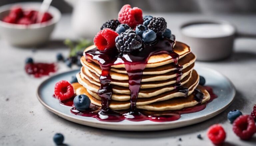
M 118 20 L 108 20 L 94 38 L 98 50 L 117 48 L 120 54 L 142 51 L 143 43 L 152 44 L 157 38 L 170 38 L 171 30 L 162 17 L 142 15 L 138 7 L 124 5 Z

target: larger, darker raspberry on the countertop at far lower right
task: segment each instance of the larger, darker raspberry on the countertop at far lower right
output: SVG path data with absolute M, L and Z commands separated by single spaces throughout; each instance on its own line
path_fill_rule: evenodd
M 256 132 L 256 126 L 253 117 L 250 115 L 241 115 L 233 122 L 233 131 L 243 140 L 252 138 Z

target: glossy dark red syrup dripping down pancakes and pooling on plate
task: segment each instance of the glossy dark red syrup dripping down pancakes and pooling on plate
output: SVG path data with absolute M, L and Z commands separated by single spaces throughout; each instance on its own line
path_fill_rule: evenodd
M 141 87 L 142 74 L 147 66 L 148 59 L 152 55 L 168 54 L 172 57 L 173 64 L 176 67 L 176 84 L 175 89 L 179 92 L 188 94 L 188 88 L 181 86 L 182 66 L 178 64 L 179 55 L 173 51 L 175 37 L 173 39 L 159 38 L 153 44 L 144 44 L 144 48 L 140 52 L 132 54 L 120 55 L 116 48 L 107 51 L 99 51 L 96 48 L 85 52 L 88 62 L 95 60 L 99 63 L 102 73 L 99 77 L 101 86 L 98 95 L 101 97 L 102 107 L 96 108 L 91 105 L 88 110 L 79 111 L 73 107 L 71 112 L 76 115 L 95 117 L 101 121 L 118 122 L 124 119 L 130 121 L 151 120 L 158 122 L 173 121 L 180 118 L 181 114 L 192 113 L 203 110 L 205 105 L 197 105 L 190 108 L 183 108 L 175 111 L 154 112 L 140 110 L 136 107 L 138 93 Z M 124 64 L 129 76 L 129 89 L 131 91 L 130 109 L 123 111 L 111 110 L 109 105 L 111 102 L 112 86 L 110 69 L 112 65 Z M 201 92 L 198 90 L 198 92 Z M 196 98 L 202 101 L 203 94 L 195 93 Z M 197 100 L 197 101 L 198 101 Z

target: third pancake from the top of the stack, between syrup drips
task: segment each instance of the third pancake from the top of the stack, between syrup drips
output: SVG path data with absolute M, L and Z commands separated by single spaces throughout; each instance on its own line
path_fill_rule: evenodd
M 191 72 L 193 70 L 193 68 L 194 68 L 194 63 L 191 64 L 186 69 L 182 70 L 183 71 L 182 78 L 185 77 L 186 75 L 188 75 L 188 73 Z M 93 78 L 97 82 L 100 82 L 100 80 L 99 80 L 100 74 L 93 73 L 85 67 L 81 68 L 81 73 L 83 75 L 87 75 L 87 76 Z M 112 72 L 112 73 L 110 73 L 110 75 L 111 75 L 111 78 L 112 78 L 112 81 L 110 82 L 111 84 L 127 86 L 127 87 L 129 86 L 129 84 L 128 84 L 128 79 L 129 79 L 128 74 Z M 171 72 L 164 73 L 164 74 L 159 74 L 159 75 L 149 75 L 149 74 L 148 75 L 142 75 L 141 82 L 168 80 L 168 79 L 171 79 L 171 78 L 175 78 L 176 76 L 177 76 L 176 71 L 171 71 Z

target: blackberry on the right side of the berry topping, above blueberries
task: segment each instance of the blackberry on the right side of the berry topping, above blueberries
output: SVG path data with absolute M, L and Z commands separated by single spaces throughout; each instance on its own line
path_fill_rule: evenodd
M 154 17 L 148 25 L 148 29 L 153 30 L 157 36 L 162 36 L 166 28 L 167 22 L 163 17 Z

